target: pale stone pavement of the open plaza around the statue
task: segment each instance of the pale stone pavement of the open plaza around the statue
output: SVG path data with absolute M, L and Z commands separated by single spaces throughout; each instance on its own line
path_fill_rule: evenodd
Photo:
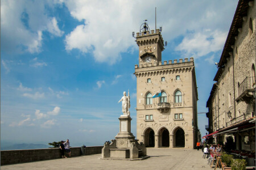
M 3 165 L 5 169 L 213 169 L 201 150 L 184 148 L 147 148 L 146 160 L 101 160 L 101 154 Z M 218 168 L 217 168 L 218 169 Z M 218 169 L 219 170 L 219 169 Z

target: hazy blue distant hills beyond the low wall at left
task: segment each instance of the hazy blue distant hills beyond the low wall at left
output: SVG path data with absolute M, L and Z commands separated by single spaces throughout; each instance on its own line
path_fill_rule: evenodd
M 35 148 L 48 148 L 51 147 L 49 145 L 44 144 L 34 144 L 34 143 L 21 143 L 10 146 L 1 146 L 1 150 L 29 150 Z

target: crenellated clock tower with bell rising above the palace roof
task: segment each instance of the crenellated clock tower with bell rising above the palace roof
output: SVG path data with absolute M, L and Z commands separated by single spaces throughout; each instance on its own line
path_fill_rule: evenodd
M 160 30 L 150 31 L 147 20 L 141 25 L 140 32 L 137 33 L 136 41 L 139 46 L 139 65 L 145 63 L 158 63 L 162 61 L 162 51 L 164 50 L 164 41 Z

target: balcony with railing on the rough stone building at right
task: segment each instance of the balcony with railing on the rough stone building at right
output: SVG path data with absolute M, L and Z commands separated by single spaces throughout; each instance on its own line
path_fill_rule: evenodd
M 238 84 L 238 97 L 236 101 L 245 101 L 249 104 L 251 100 L 255 103 L 255 77 L 246 77 Z

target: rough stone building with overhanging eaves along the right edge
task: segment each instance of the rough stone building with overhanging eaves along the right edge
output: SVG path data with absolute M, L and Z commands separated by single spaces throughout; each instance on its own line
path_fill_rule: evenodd
M 240 0 L 207 101 L 209 134 L 238 150 L 255 151 L 255 1 Z

